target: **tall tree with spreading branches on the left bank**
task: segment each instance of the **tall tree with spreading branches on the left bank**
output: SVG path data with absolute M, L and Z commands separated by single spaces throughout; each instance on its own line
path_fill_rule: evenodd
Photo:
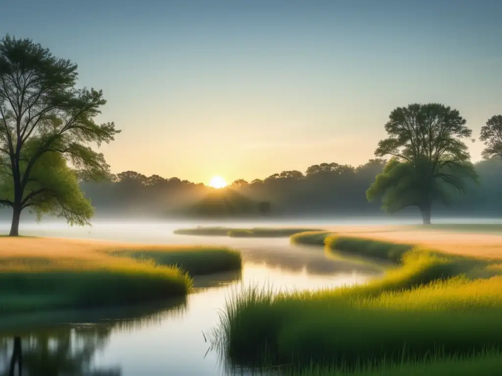
M 81 201 L 74 179 L 109 176 L 103 154 L 91 145 L 108 143 L 120 131 L 114 123 L 94 122 L 106 103 L 102 91 L 77 89 L 76 79 L 76 64 L 54 57 L 40 44 L 9 35 L 0 41 L 0 165 L 2 186 L 8 187 L 0 192 L 0 204 L 13 209 L 11 236 L 19 234 L 26 208 L 59 215 L 70 224 L 88 223 L 92 211 Z M 63 192 L 54 184 L 57 179 L 69 179 L 72 190 Z M 74 199 L 78 205 L 67 206 Z

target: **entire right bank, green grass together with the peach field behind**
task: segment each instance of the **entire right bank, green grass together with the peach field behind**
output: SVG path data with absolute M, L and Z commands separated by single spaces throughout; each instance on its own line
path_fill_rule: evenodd
M 381 280 L 354 287 L 236 292 L 213 333 L 230 362 L 289 364 L 298 375 L 439 374 L 451 364 L 477 374 L 502 362 L 501 237 L 409 227 L 336 230 L 291 241 L 395 266 Z

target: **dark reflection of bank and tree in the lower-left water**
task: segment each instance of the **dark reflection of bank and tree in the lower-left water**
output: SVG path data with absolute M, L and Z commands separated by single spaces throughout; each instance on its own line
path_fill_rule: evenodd
M 186 309 L 186 299 L 178 299 L 141 307 L 3 317 L 0 375 L 118 376 L 119 367 L 92 366 L 94 353 L 105 346 L 112 331 L 160 325 L 163 320 L 181 317 Z

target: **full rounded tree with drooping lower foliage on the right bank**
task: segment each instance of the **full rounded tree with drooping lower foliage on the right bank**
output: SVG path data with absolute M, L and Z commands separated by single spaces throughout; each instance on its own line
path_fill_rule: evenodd
M 477 179 L 462 141 L 472 134 L 465 123 L 457 110 L 438 103 L 393 110 L 385 124 L 389 136 L 374 153 L 393 158 L 367 190 L 368 201 L 382 197 L 388 212 L 416 206 L 430 224 L 432 204 L 449 202 L 449 186 L 463 193 L 464 179 Z

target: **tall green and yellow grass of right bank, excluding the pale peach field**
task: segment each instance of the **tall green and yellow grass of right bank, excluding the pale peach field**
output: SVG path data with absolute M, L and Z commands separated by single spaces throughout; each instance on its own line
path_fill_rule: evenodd
M 502 344 L 502 277 L 467 278 L 486 261 L 336 234 L 300 234 L 292 241 L 388 259 L 399 267 L 353 287 L 279 294 L 251 287 L 236 294 L 214 333 L 233 362 L 352 369 Z

